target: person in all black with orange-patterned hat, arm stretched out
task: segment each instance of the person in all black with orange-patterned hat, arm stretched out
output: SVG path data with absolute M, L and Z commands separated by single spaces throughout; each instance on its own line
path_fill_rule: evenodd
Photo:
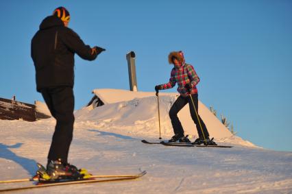
M 56 128 L 49 149 L 47 173 L 52 180 L 80 178 L 82 174 L 67 159 L 73 138 L 74 123 L 74 55 L 95 60 L 105 49 L 85 45 L 68 26 L 70 14 L 66 8 L 54 10 L 40 24 L 32 38 L 32 60 L 36 69 L 36 90 L 42 94 Z

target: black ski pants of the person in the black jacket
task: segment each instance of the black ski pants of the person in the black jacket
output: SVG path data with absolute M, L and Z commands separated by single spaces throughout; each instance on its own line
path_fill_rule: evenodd
M 44 88 L 40 91 L 42 97 L 56 119 L 56 128 L 53 133 L 51 147 L 49 149 L 49 160 L 67 162 L 69 147 L 73 138 L 74 124 L 74 95 L 73 88 L 60 86 L 56 88 Z

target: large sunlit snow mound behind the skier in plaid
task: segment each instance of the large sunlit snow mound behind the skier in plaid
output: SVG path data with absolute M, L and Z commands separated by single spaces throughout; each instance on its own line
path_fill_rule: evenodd
M 94 90 L 104 106 L 88 106 L 75 112 L 79 124 L 104 130 L 122 130 L 125 134 L 137 134 L 146 137 L 159 136 L 158 101 L 154 93 L 131 92 L 127 90 L 102 89 Z M 177 95 L 163 93 L 160 95 L 160 131 L 161 136 L 170 138 L 173 128 L 169 119 L 169 110 Z M 217 117 L 199 101 L 199 114 L 204 120 L 208 132 L 216 141 L 255 147 L 243 139 L 233 136 Z M 197 138 L 195 123 L 191 119 L 189 107 L 185 106 L 178 114 L 185 134 Z

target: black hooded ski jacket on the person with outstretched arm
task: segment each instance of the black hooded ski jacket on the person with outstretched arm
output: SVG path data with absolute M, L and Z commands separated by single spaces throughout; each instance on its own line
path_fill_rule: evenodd
M 95 60 L 80 37 L 57 16 L 47 16 L 32 38 L 31 55 L 36 69 L 36 90 L 74 85 L 74 54 L 84 60 Z

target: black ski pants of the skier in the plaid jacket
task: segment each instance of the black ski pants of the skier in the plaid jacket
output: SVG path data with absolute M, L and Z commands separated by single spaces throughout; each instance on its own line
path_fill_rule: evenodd
M 178 112 L 180 112 L 180 110 L 182 108 L 184 108 L 184 106 L 186 104 L 188 104 L 190 106 L 190 112 L 191 112 L 191 117 L 197 127 L 197 133 L 199 134 L 200 138 L 207 138 L 209 136 L 208 130 L 206 128 L 206 125 L 204 123 L 204 121 L 201 119 L 201 117 L 199 117 L 199 113 L 198 113 L 198 99 L 197 99 L 197 94 L 192 95 L 193 97 L 193 102 L 195 104 L 195 109 L 197 111 L 197 114 L 195 112 L 195 109 L 193 107 L 193 103 L 191 101 L 191 97 L 178 97 L 178 99 L 176 99 L 176 101 L 174 102 L 173 106 L 171 106 L 171 109 L 169 110 L 169 117 L 171 119 L 171 124 L 173 126 L 173 132 L 175 134 L 178 134 L 180 136 L 184 135 L 184 129 L 182 128 L 182 123 L 180 123 L 180 119 L 178 119 Z M 198 118 L 199 117 L 199 121 Z M 200 124 L 202 126 L 202 129 L 200 127 Z M 202 130 L 204 132 L 204 136 L 202 133 Z

